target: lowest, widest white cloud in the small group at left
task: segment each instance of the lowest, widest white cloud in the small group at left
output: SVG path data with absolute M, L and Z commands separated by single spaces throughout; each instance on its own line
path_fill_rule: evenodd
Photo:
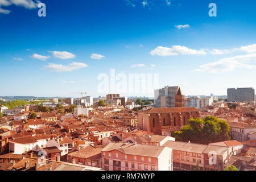
M 49 63 L 44 68 L 53 72 L 71 72 L 86 67 L 88 67 L 88 65 L 85 63 L 73 62 L 68 65 Z

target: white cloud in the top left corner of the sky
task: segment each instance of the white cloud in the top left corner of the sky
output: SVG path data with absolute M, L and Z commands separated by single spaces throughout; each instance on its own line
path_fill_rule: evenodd
M 40 1 L 32 1 L 32 0 L 0 0 L 0 13 L 9 14 L 10 10 L 2 9 L 1 7 L 5 6 L 22 6 L 26 9 L 35 9 L 38 7 Z

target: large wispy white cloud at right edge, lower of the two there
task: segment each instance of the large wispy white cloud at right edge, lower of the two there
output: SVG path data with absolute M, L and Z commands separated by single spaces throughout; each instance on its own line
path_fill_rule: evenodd
M 235 71 L 236 68 L 255 69 L 256 65 L 250 64 L 250 62 L 256 62 L 256 53 L 228 57 L 218 60 L 215 63 L 203 64 L 195 71 L 216 73 Z

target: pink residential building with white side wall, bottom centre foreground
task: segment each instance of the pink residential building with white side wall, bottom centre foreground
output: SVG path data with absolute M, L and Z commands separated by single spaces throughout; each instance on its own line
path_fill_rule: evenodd
M 172 149 L 137 143 L 109 143 L 101 150 L 106 171 L 172 171 Z

